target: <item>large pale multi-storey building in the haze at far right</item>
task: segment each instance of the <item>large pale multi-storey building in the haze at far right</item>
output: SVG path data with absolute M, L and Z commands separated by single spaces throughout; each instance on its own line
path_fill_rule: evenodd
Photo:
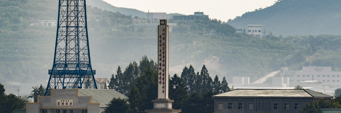
M 288 67 L 282 67 L 280 74 L 289 78 L 290 87 L 306 84 L 302 81 L 322 81 L 321 86 L 340 87 L 341 81 L 341 72 L 331 71 L 331 67 L 302 67 L 301 71 L 289 71 Z

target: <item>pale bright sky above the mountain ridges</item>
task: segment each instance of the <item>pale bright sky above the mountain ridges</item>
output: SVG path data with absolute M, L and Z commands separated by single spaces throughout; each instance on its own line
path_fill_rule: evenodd
M 204 12 L 209 18 L 234 19 L 245 12 L 271 6 L 277 0 L 103 0 L 116 7 L 134 8 L 143 12 L 193 15 Z

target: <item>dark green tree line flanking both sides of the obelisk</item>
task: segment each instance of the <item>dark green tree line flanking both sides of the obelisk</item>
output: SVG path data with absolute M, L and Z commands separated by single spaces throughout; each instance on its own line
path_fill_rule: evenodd
M 118 67 L 116 74 L 110 78 L 109 89 L 128 96 L 114 98 L 110 101 L 105 113 L 142 113 L 153 109 L 151 100 L 157 98 L 157 62 L 143 56 L 139 65 L 134 61 L 122 72 Z M 209 76 L 206 66 L 201 72 L 194 71 L 192 65 L 184 67 L 180 76 L 169 76 L 169 98 L 174 100 L 173 109 L 182 109 L 182 113 L 208 113 L 214 110 L 214 94 L 229 91 L 226 78 L 219 81 Z

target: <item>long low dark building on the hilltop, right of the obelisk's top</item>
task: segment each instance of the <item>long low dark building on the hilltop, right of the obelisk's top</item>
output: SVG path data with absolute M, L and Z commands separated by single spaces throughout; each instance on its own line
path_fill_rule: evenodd
M 208 15 L 204 15 L 204 12 L 194 12 L 194 15 L 174 15 L 173 20 L 175 21 L 188 21 L 195 22 L 196 20 L 204 20 L 208 18 Z

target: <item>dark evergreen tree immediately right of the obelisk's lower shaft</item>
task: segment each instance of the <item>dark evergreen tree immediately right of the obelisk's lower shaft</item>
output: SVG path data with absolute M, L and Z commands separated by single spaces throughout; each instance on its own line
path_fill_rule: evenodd
M 182 79 L 177 74 L 169 79 L 169 98 L 174 100 L 173 109 L 181 109 L 188 101 L 186 85 L 182 83 Z

